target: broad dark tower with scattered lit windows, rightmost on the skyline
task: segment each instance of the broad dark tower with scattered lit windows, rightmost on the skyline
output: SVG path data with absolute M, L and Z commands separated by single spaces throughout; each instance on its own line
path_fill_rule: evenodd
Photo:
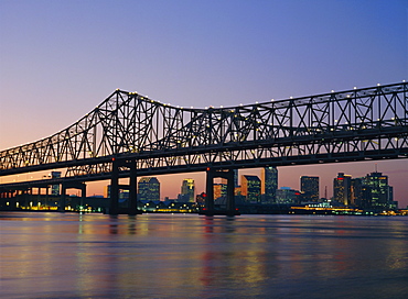
M 388 186 L 388 176 L 371 173 L 364 178 L 367 186 L 368 201 L 373 209 L 388 209 L 393 203 L 393 187 Z

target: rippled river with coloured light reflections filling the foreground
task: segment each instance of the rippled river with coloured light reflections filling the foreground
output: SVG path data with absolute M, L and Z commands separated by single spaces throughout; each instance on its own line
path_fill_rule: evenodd
M 408 218 L 0 213 L 4 298 L 407 298 Z

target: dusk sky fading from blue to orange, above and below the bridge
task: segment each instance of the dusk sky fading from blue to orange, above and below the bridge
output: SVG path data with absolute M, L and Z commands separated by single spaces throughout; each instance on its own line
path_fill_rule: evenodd
M 174 106 L 237 106 L 408 79 L 407 0 L 0 0 L 0 150 L 49 136 L 116 88 Z M 279 168 L 279 186 L 375 163 Z M 408 160 L 378 162 L 408 204 Z M 259 174 L 258 169 L 246 173 Z M 160 177 L 175 197 L 181 180 Z M 89 193 L 103 193 L 90 184 Z

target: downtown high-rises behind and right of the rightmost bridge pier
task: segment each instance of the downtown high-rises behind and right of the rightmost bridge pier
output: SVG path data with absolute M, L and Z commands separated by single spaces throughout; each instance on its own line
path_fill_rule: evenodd
M 320 196 L 320 178 L 316 176 L 300 177 L 300 190 L 290 187 L 278 189 L 278 170 L 276 167 L 261 169 L 261 178 L 243 175 L 240 186 L 235 187 L 235 196 L 240 203 L 260 204 L 304 204 L 332 202 L 340 207 L 356 207 L 366 210 L 397 209 L 398 202 L 393 199 L 393 187 L 388 176 L 374 171 L 365 177 L 352 178 L 339 173 L 333 179 L 333 197 Z M 226 182 L 214 185 L 214 199 L 223 202 L 226 196 Z

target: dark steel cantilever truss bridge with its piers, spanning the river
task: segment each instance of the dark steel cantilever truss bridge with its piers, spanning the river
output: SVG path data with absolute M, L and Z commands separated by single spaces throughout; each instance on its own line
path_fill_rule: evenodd
M 130 177 L 135 212 L 137 176 L 206 171 L 212 210 L 212 180 L 229 180 L 232 169 L 407 157 L 405 81 L 208 109 L 173 107 L 118 89 L 54 135 L 1 151 L 0 177 L 66 171 L 58 179 L 2 184 L 0 192 L 110 179 L 110 213 L 118 213 L 119 188 L 126 187 L 119 178 Z M 228 211 L 234 210 L 230 193 Z

